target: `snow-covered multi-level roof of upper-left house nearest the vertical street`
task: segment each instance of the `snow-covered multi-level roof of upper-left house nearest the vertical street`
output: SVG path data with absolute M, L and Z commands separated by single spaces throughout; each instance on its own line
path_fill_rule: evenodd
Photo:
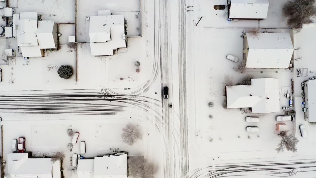
M 104 13 L 108 11 L 100 11 Z M 91 16 L 89 38 L 93 56 L 113 55 L 113 50 L 126 48 L 124 16 Z

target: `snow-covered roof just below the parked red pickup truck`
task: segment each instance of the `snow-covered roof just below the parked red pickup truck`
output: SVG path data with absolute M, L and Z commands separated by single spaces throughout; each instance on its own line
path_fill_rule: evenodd
M 60 161 L 51 158 L 29 158 L 28 153 L 8 154 L 8 174 L 11 178 L 60 178 Z

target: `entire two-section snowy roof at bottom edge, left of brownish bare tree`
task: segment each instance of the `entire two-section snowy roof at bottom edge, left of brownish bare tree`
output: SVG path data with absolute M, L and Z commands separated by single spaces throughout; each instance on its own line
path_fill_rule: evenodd
M 78 178 L 127 178 L 127 153 L 78 160 Z

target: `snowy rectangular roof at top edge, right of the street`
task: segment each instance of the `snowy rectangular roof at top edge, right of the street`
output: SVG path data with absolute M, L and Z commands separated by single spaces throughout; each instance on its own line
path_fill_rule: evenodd
M 229 18 L 265 19 L 269 0 L 230 0 Z

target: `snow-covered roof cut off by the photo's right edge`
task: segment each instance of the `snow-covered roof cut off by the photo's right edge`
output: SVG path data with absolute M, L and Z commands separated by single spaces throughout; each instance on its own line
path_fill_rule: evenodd
M 305 82 L 307 87 L 306 103 L 308 109 L 308 122 L 316 122 L 316 80 L 308 80 Z

